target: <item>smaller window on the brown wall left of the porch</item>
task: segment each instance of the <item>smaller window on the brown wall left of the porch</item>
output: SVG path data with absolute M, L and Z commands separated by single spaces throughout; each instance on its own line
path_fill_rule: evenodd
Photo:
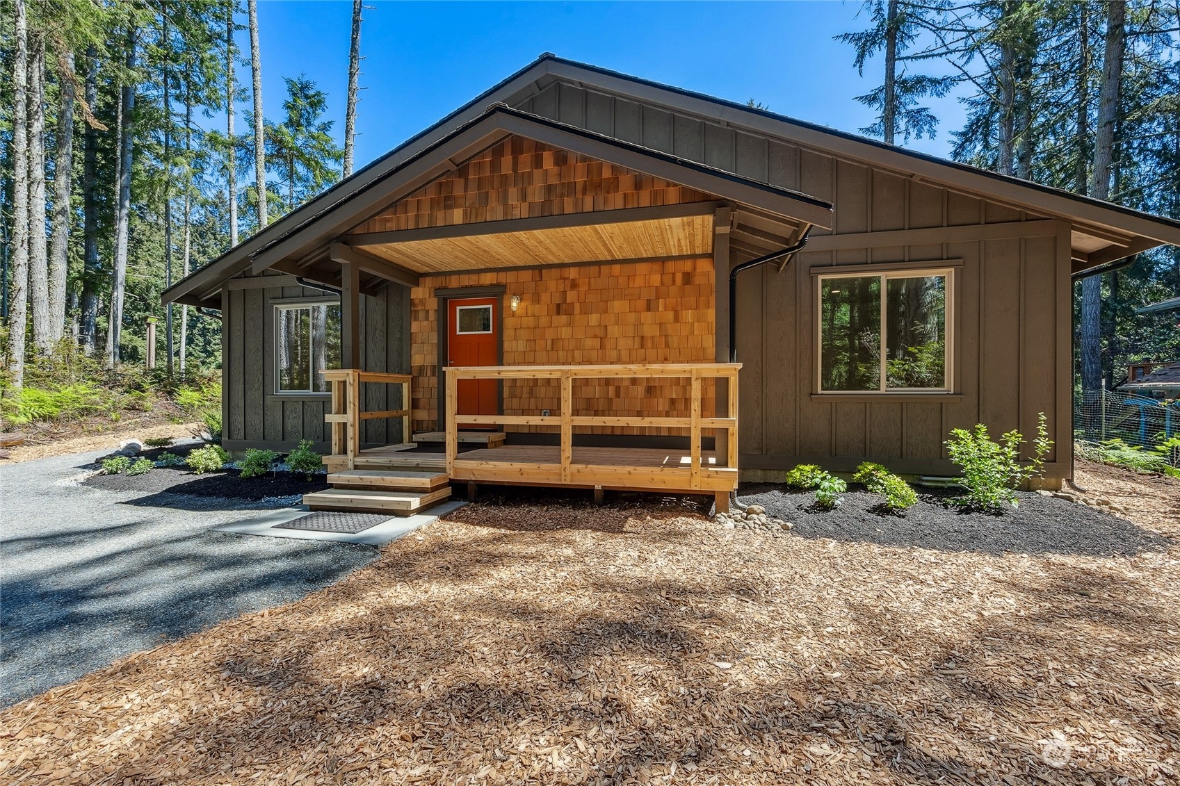
M 340 303 L 275 307 L 280 393 L 328 393 L 326 368 L 340 368 Z

